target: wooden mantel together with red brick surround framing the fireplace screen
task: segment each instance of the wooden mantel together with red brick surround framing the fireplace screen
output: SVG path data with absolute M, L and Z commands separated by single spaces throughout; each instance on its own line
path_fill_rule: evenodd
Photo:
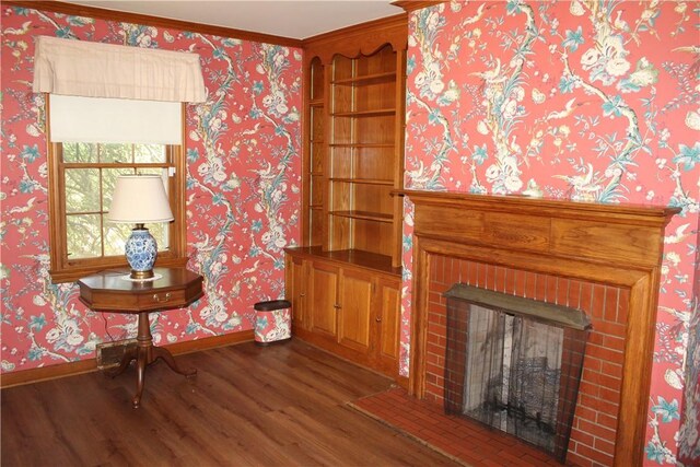
M 675 209 L 404 191 L 416 206 L 409 393 L 442 405 L 454 283 L 583 310 L 568 464 L 642 464 L 664 227 Z

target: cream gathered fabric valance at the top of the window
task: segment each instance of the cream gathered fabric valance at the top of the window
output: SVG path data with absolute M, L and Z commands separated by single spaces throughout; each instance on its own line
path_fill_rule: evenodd
M 38 36 L 34 92 L 205 102 L 199 55 Z

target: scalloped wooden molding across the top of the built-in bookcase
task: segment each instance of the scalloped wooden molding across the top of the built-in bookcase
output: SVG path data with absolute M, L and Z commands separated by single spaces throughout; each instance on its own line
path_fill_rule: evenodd
M 408 47 L 408 15 L 406 13 L 343 27 L 303 40 L 305 61 L 314 57 L 322 63 L 330 62 L 336 54 L 348 58 L 372 55 L 386 44 L 394 50 Z

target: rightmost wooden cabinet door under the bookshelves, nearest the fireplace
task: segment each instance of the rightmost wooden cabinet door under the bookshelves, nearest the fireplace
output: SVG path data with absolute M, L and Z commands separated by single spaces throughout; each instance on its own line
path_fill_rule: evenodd
M 398 373 L 401 294 L 398 280 L 381 278 L 377 288 L 374 323 L 377 326 L 375 358 L 382 370 Z

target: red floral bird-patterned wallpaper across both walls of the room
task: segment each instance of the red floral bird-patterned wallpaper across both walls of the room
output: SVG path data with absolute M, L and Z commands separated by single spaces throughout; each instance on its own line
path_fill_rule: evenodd
M 187 106 L 189 268 L 206 295 L 152 315 L 158 343 L 253 329 L 283 294 L 299 242 L 302 50 L 1 7 L 1 371 L 93 358 L 136 334 L 48 269 L 45 96 L 50 35 L 199 54 L 207 102 Z M 700 2 L 450 1 L 409 13 L 405 186 L 681 209 L 666 230 L 645 457 L 700 458 Z M 404 225 L 408 374 L 412 208 Z M 685 406 L 682 405 L 685 392 Z

